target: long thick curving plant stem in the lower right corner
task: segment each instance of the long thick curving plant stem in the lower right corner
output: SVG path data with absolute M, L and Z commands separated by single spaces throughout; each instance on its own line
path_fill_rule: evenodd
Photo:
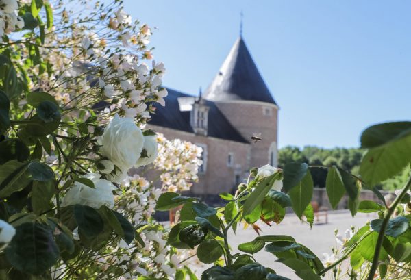
M 379 233 L 378 233 L 377 244 L 375 245 L 373 264 L 371 265 L 369 275 L 366 278 L 367 280 L 374 279 L 375 272 L 377 271 L 377 268 L 378 268 L 379 253 L 381 252 L 382 242 L 384 241 L 384 236 L 385 236 L 388 222 L 390 221 L 390 218 L 393 215 L 398 203 L 407 194 L 408 190 L 410 189 L 410 186 L 411 186 L 411 177 L 410 179 L 408 179 L 408 182 L 406 183 L 406 186 L 403 188 L 403 190 L 401 190 L 401 193 L 399 194 L 399 196 L 397 196 L 395 201 L 390 205 L 390 207 L 388 208 L 388 212 L 386 216 L 384 217 L 384 220 L 382 220 L 381 229 L 379 229 Z

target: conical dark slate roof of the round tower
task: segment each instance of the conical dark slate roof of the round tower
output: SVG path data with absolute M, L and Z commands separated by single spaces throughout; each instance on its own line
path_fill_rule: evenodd
M 252 100 L 276 104 L 241 36 L 234 43 L 204 98 L 212 101 Z

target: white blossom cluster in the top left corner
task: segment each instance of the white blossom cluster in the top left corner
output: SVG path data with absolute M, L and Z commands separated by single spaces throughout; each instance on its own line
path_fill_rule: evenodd
M 17 0 L 0 1 L 0 43 L 3 42 L 5 34 L 24 27 L 23 18 L 18 16 L 16 10 L 18 10 Z

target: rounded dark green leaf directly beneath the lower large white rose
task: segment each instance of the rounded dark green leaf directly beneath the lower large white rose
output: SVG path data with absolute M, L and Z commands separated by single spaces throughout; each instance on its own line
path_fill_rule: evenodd
M 86 205 L 74 205 L 74 218 L 79 226 L 79 232 L 82 231 L 88 238 L 97 236 L 103 231 L 104 223 L 97 212 L 92 207 Z

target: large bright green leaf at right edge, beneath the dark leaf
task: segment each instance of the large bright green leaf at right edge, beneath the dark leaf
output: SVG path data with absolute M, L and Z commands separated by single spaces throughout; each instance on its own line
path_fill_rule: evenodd
M 411 162 L 411 134 L 397 138 L 367 151 L 360 164 L 360 175 L 369 185 L 375 186 L 397 175 Z

